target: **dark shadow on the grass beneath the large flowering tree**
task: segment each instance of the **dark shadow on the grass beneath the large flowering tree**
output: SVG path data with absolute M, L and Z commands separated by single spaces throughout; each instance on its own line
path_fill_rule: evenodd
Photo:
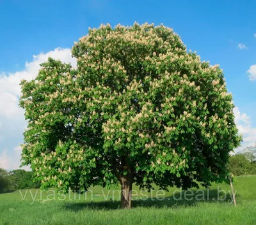
M 201 192 L 200 192 L 201 191 Z M 236 195 L 237 197 L 238 195 Z M 189 207 L 196 205 L 198 202 L 220 202 L 232 204 L 232 195 L 229 192 L 225 192 L 212 189 L 205 190 L 202 194 L 202 190 L 180 191 L 174 195 L 168 197 L 151 197 L 141 199 L 140 196 L 132 197 L 132 208 L 136 207 L 156 207 L 156 208 L 170 208 L 170 207 Z M 81 203 L 65 204 L 65 210 L 79 212 L 81 210 L 116 210 L 120 208 L 120 201 L 118 200 L 106 200 L 106 201 L 90 201 Z

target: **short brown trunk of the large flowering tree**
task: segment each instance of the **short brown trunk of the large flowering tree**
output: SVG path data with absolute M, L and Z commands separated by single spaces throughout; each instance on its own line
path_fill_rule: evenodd
M 131 208 L 132 205 L 132 179 L 129 177 L 121 177 L 121 208 Z

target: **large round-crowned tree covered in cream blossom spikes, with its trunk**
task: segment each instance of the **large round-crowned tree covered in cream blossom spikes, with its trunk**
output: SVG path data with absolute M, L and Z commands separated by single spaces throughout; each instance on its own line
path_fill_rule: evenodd
M 101 25 L 75 43 L 77 68 L 49 59 L 21 83 L 22 159 L 42 188 L 132 184 L 184 189 L 222 182 L 241 142 L 219 66 L 163 25 Z

